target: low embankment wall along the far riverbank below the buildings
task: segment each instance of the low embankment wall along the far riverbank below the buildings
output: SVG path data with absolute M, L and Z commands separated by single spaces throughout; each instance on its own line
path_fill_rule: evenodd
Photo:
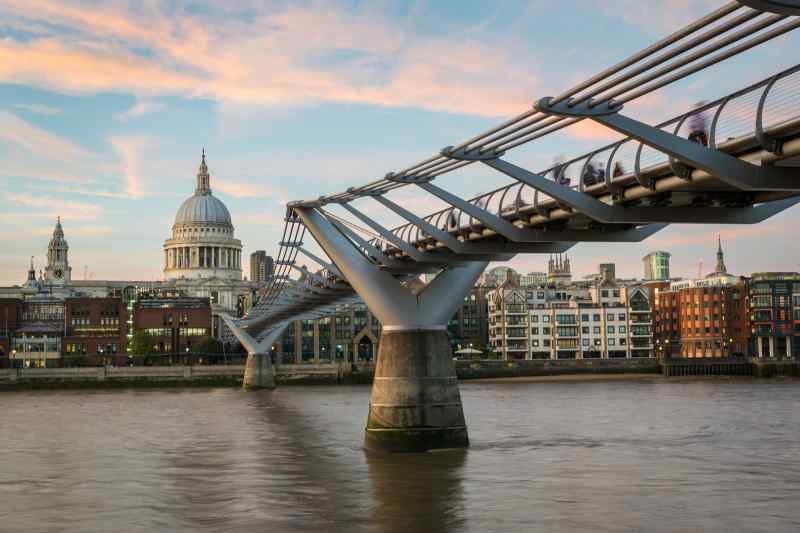
M 797 361 L 571 359 L 456 361 L 461 381 L 548 383 L 570 381 L 742 379 L 800 376 Z M 350 363 L 278 365 L 275 381 L 284 385 L 356 385 L 372 383 L 374 368 Z M 0 391 L 59 388 L 241 387 L 243 365 L 12 368 L 0 369 Z

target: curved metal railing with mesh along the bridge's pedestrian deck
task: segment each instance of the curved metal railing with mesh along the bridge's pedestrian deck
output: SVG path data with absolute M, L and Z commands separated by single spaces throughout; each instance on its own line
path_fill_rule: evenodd
M 768 132 L 779 131 L 788 122 L 800 120 L 800 65 L 698 106 L 658 124 L 657 127 L 688 137 L 689 118 L 695 114 L 707 118 L 711 147 L 742 139 L 754 139 L 758 142 L 760 135 L 766 135 L 763 148 L 772 151 L 779 147 L 780 139 L 769 140 L 771 138 Z M 775 141 L 778 142 L 777 145 Z M 555 182 L 566 181 L 575 190 L 600 195 L 612 192 L 632 179 L 644 184 L 649 179 L 645 176 L 654 168 L 668 162 L 669 156 L 663 152 L 626 138 L 557 166 L 548 167 L 539 174 Z M 596 180 L 594 182 L 587 180 L 590 176 L 587 173 L 589 168 L 595 169 L 595 174 L 591 174 Z M 544 209 L 553 204 L 553 200 L 546 194 L 517 181 L 475 196 L 469 202 L 510 219 L 522 219 L 531 209 Z M 480 221 L 457 207 L 442 209 L 423 219 L 451 233 L 465 233 L 481 228 Z M 398 226 L 392 232 L 409 243 L 421 243 L 429 239 L 419 227 L 411 223 Z

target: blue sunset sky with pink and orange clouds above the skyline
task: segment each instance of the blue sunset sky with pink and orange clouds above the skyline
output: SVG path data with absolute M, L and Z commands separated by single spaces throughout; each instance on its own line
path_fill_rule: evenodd
M 202 148 L 244 256 L 274 254 L 288 201 L 410 166 L 720 5 L 0 0 L 0 285 L 22 283 L 31 256 L 44 267 L 56 216 L 74 279 L 160 279 L 161 246 Z M 628 112 L 654 123 L 791 66 L 795 34 Z M 508 159 L 540 170 L 614 138 L 585 121 Z M 472 165 L 437 182 L 466 197 L 508 179 Z M 440 206 L 409 189 L 392 199 L 419 214 Z M 569 255 L 579 276 L 611 261 L 618 275 L 641 277 L 641 257 L 667 250 L 673 275 L 693 276 L 700 260 L 713 268 L 721 234 L 729 271 L 793 271 L 799 221 L 795 207 L 757 226 L 674 225 Z

